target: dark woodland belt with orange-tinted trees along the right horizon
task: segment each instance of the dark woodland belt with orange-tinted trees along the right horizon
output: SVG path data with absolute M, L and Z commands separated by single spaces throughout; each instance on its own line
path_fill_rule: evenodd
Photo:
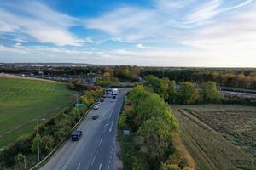
M 217 82 L 219 86 L 256 89 L 256 69 L 189 69 L 182 71 L 146 69 L 143 70 L 142 74 L 143 76 L 167 77 L 176 82 L 202 83 L 212 81 Z

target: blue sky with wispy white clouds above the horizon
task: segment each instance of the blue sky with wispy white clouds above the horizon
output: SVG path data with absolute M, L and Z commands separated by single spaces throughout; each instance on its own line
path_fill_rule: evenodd
M 256 0 L 1 0 L 0 62 L 256 67 Z

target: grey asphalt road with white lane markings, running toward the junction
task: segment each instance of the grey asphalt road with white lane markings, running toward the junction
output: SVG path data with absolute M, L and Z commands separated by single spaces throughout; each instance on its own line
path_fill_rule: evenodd
M 114 170 L 116 127 L 126 90 L 119 90 L 115 102 L 106 98 L 98 110 L 91 110 L 78 130 L 79 141 L 71 139 L 55 153 L 42 170 Z M 97 120 L 92 116 L 99 115 Z

